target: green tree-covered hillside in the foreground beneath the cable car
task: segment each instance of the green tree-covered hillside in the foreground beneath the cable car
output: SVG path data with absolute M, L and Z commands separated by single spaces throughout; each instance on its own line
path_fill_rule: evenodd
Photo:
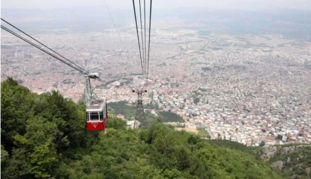
M 6 179 L 281 179 L 248 152 L 153 121 L 127 129 L 109 116 L 106 133 L 86 132 L 85 105 L 57 92 L 1 83 L 1 177 Z M 196 145 L 191 152 L 190 145 Z

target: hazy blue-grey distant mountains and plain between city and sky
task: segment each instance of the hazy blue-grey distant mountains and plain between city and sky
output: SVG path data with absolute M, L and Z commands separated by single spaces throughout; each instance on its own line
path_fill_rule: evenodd
M 117 28 L 123 28 L 135 22 L 131 9 L 111 9 L 110 12 Z M 1 17 L 15 21 L 21 28 L 34 31 L 70 28 L 78 32 L 86 32 L 113 28 L 109 14 L 103 8 L 1 9 Z M 139 17 L 138 13 L 137 17 Z M 152 20 L 170 17 L 179 18 L 186 23 L 205 24 L 207 28 L 225 28 L 229 34 L 274 33 L 288 38 L 311 41 L 311 11 L 308 10 L 153 9 Z

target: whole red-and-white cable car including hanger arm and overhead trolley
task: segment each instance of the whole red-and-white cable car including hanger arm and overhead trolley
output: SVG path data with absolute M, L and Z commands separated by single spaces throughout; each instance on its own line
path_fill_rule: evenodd
M 93 99 L 90 79 L 98 78 L 98 73 L 85 75 L 86 129 L 88 131 L 105 130 L 108 121 L 107 102 Z

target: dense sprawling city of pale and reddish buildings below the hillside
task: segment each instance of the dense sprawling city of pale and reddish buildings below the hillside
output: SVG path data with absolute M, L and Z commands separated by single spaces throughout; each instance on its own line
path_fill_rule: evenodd
M 232 35 L 219 29 L 181 28 L 155 20 L 151 29 L 149 80 L 141 80 L 135 24 L 90 33 L 33 35 L 105 81 L 91 81 L 108 102 L 135 103 L 132 89 L 145 85 L 144 103 L 157 104 L 204 127 L 211 138 L 247 146 L 311 143 L 311 42 L 282 35 Z M 188 24 L 191 26 L 193 24 Z M 2 31 L 1 31 L 2 32 Z M 1 81 L 8 76 L 33 92 L 59 91 L 77 102 L 84 78 L 74 69 L 1 33 Z M 122 114 L 121 114 L 122 115 Z

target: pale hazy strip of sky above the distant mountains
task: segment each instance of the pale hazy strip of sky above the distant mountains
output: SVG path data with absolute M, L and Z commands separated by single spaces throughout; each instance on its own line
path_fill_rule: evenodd
M 143 0 L 141 0 L 143 2 Z M 148 3 L 147 3 L 148 2 Z M 146 0 L 149 4 L 150 0 Z M 131 9 L 132 0 L 106 0 L 109 8 Z M 135 0 L 138 5 L 139 1 Z M 1 8 L 60 8 L 104 6 L 104 0 L 1 0 Z M 311 10 L 311 0 L 153 0 L 153 8 L 207 7 L 210 9 L 271 9 Z

